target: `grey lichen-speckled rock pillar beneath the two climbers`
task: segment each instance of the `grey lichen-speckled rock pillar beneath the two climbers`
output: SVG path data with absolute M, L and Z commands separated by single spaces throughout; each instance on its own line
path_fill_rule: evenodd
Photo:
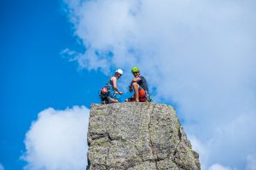
M 91 105 L 87 169 L 201 169 L 170 105 Z

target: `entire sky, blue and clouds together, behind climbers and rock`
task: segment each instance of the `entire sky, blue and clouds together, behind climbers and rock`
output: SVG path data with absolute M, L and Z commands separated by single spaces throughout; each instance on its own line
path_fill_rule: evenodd
M 63 163 L 67 157 L 38 141 L 59 144 L 65 137 L 72 142 L 60 147 L 73 150 L 80 143 L 69 139 L 84 133 L 98 90 L 122 68 L 125 99 L 133 65 L 147 77 L 155 102 L 176 106 L 202 169 L 255 169 L 255 5 L 253 0 L 2 1 L 0 170 L 1 165 L 64 168 L 55 162 L 83 167 L 85 162 Z M 79 133 L 59 133 L 73 123 L 81 125 L 73 129 Z M 55 162 L 46 159 L 55 155 Z

